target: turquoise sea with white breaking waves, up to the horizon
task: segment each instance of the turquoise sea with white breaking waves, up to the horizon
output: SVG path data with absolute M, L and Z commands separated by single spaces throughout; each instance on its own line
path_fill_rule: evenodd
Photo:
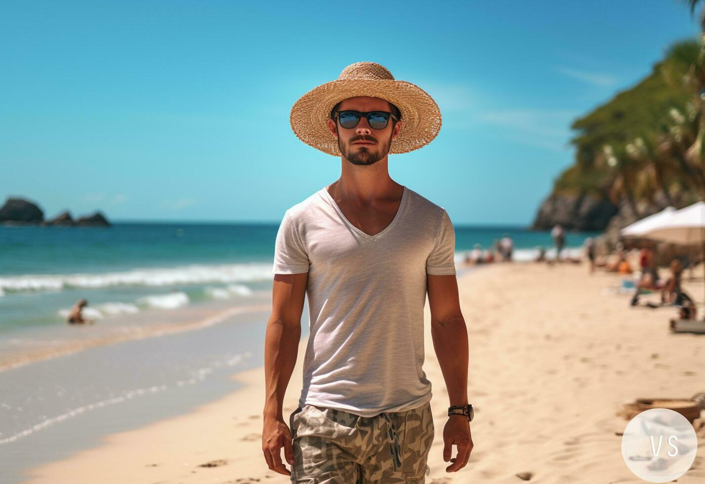
M 274 223 L 116 223 L 111 228 L 0 226 L 0 335 L 63 324 L 76 300 L 106 318 L 176 309 L 212 299 L 242 302 L 271 287 Z M 508 233 L 530 259 L 548 232 L 455 227 L 457 259 Z M 580 247 L 594 233 L 569 233 Z

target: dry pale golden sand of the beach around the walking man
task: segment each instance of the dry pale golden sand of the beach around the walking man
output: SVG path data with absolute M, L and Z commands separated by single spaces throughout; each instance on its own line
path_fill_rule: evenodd
M 446 473 L 448 406 L 427 306 L 426 364 L 436 438 L 427 483 L 639 483 L 624 464 L 620 404 L 637 397 L 691 397 L 705 390 L 705 336 L 668 331 L 673 309 L 630 308 L 620 277 L 584 264 L 495 264 L 459 278 L 470 334 L 468 393 L 474 450 Z M 686 290 L 702 302 L 702 279 Z M 264 330 L 263 330 L 264 331 Z M 285 416 L 301 386 L 306 337 Z M 262 457 L 262 368 L 233 376 L 244 386 L 176 418 L 106 438 L 99 447 L 33 469 L 27 482 L 286 483 Z M 679 483 L 705 482 L 705 416 L 699 452 Z

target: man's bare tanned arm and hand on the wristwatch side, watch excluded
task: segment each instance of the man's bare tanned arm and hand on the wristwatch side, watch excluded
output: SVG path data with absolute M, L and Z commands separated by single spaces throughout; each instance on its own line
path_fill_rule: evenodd
M 465 319 L 460 311 L 458 280 L 455 275 L 427 275 L 429 308 L 431 309 L 431 337 L 434 350 L 446 381 L 449 406 L 467 404 L 468 344 Z M 448 417 L 443 428 L 443 460 L 453 464 L 446 471 L 465 467 L 472 452 L 472 436 L 467 418 L 462 415 Z M 453 445 L 458 454 L 451 459 Z

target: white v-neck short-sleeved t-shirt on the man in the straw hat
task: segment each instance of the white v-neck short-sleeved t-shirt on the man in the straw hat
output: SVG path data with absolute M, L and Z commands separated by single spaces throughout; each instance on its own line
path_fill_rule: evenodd
M 299 405 L 375 416 L 429 402 L 426 275 L 455 274 L 454 256 L 448 213 L 407 187 L 376 235 L 350 223 L 325 187 L 288 209 L 272 272 L 309 273 Z

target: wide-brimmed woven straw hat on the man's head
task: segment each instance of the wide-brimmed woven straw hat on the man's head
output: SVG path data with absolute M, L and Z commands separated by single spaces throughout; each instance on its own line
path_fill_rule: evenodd
M 389 70 L 374 62 L 356 62 L 343 69 L 338 80 L 314 87 L 294 103 L 290 123 L 302 142 L 333 156 L 341 156 L 338 139 L 326 120 L 343 99 L 379 97 L 401 112 L 401 131 L 392 139 L 390 154 L 407 153 L 429 144 L 441 130 L 441 111 L 431 96 L 417 85 L 394 80 Z

